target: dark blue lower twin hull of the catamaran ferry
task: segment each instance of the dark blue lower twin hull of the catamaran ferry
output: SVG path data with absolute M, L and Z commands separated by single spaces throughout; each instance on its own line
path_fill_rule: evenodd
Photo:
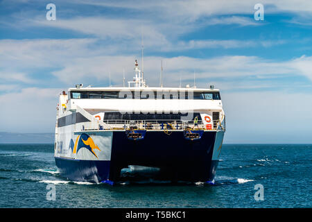
M 118 182 L 123 180 L 121 169 L 139 165 L 159 168 L 159 180 L 207 182 L 218 165 L 212 160 L 215 141 L 216 132 L 207 131 L 195 140 L 186 139 L 183 131 L 148 131 L 137 140 L 114 131 L 110 161 L 55 157 L 55 164 L 62 176 L 75 181 Z

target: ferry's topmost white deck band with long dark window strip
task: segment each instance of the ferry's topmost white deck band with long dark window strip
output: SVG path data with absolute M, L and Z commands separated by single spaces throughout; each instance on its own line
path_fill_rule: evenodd
M 83 87 L 71 88 L 68 107 L 119 112 L 222 111 L 218 89 L 173 87 Z

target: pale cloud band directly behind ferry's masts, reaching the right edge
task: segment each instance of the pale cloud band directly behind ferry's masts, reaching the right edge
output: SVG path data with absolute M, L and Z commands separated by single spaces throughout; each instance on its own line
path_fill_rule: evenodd
M 64 83 L 77 83 L 89 78 L 107 80 L 111 72 L 112 83 L 121 85 L 122 71 L 125 69 L 127 80 L 133 76 L 133 56 L 98 56 L 92 58 L 78 58 L 64 62 L 64 69 L 53 71 Z M 185 84 L 193 84 L 193 72 L 196 72 L 198 87 L 207 87 L 211 78 L 224 78 L 227 89 L 238 89 L 235 78 L 282 78 L 284 76 L 306 76 L 311 78 L 311 57 L 295 58 L 283 62 L 264 60 L 256 56 L 221 56 L 217 58 L 190 58 L 178 56 L 162 58 L 146 56 L 144 58 L 144 76 L 149 85 L 159 85 L 160 63 L 163 61 L 164 83 L 166 86 L 177 86 L 180 77 Z M 139 66 L 141 66 L 139 60 Z M 272 77 L 273 76 L 273 77 Z M 227 80 L 226 80 L 227 78 Z M 189 83 L 187 83 L 187 80 Z M 87 82 L 89 83 L 89 82 Z M 217 83 L 220 83 L 217 82 Z M 221 82 L 222 83 L 222 82 Z M 241 89 L 270 87 L 272 85 L 259 84 L 255 81 L 240 84 Z M 248 85 L 249 84 L 249 85 Z M 224 83 L 222 84 L 224 86 Z

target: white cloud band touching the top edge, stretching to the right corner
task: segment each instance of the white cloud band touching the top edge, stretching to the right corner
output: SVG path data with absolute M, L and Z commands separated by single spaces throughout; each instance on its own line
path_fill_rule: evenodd
M 302 13 L 312 12 L 312 2 L 306 0 L 190 0 L 190 1 L 82 1 L 78 0 L 76 3 L 83 3 L 94 6 L 103 6 L 107 8 L 127 8 L 137 10 L 138 12 L 145 12 L 146 14 L 153 13 L 154 16 L 171 19 L 180 19 L 183 22 L 195 21 L 200 17 L 214 17 L 216 15 L 253 15 L 254 5 L 262 3 L 265 13 L 278 12 L 292 12 L 297 15 Z

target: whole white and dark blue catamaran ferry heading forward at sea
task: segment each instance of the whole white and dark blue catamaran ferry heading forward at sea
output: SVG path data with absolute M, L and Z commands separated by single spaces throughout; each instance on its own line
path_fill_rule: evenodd
M 73 181 L 122 181 L 127 169 L 157 169 L 162 180 L 214 183 L 225 134 L 220 90 L 149 87 L 135 61 L 128 87 L 63 91 L 54 157 Z

